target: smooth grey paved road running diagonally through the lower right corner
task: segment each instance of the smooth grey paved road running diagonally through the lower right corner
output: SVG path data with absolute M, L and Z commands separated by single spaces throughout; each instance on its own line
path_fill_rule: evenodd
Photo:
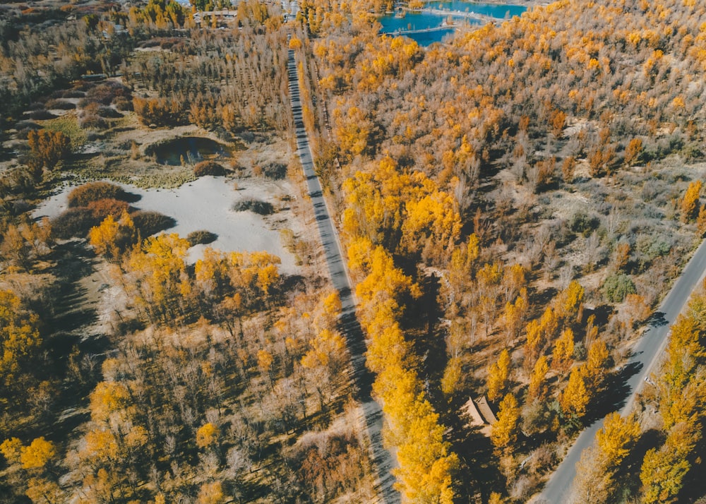
M 628 398 L 620 410 L 625 416 L 630 412 L 635 401 L 635 394 L 640 391 L 644 380 L 650 373 L 657 371 L 656 364 L 666 347 L 666 335 L 669 327 L 674 324 L 676 317 L 686 307 L 689 296 L 700 284 L 706 273 L 706 241 L 696 249 L 693 257 L 684 268 L 681 277 L 678 277 L 674 286 L 666 295 L 657 313 L 652 317 L 653 322 L 642 335 L 633 348 L 633 356 L 629 359 L 626 368 L 634 369 L 633 375 L 628 378 L 626 385 L 629 388 Z M 563 462 L 559 464 L 556 472 L 551 476 L 544 491 L 536 503 L 566 504 L 570 502 L 571 486 L 576 476 L 576 463 L 580 460 L 583 450 L 592 445 L 597 431 L 602 428 L 603 420 L 595 421 L 586 428 L 569 450 Z

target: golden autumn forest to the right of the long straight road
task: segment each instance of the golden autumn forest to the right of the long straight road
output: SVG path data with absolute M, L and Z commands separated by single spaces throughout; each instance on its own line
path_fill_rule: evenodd
M 387 443 L 425 461 L 398 457 L 402 495 L 530 500 L 578 432 L 618 409 L 630 347 L 706 231 L 703 7 L 558 1 L 424 49 L 378 35 L 371 12 L 388 6 L 301 6 L 331 118 L 318 162 L 341 188 Z M 430 298 L 428 317 L 411 315 Z M 635 416 L 609 416 L 576 502 L 701 497 L 704 389 L 676 331 L 671 365 L 693 364 Z M 404 413 L 394 383 L 410 384 Z M 686 387 L 693 409 L 666 402 Z M 461 415 L 482 396 L 488 438 Z M 686 422 L 671 440 L 670 408 Z M 418 488 L 429 477 L 435 500 Z

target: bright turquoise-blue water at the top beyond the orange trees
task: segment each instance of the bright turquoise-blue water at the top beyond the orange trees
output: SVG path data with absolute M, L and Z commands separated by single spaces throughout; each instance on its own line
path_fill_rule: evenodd
M 493 18 L 509 19 L 513 16 L 520 16 L 527 10 L 525 6 L 506 4 L 477 4 L 469 1 L 431 1 L 425 2 L 425 8 L 434 8 L 444 11 L 474 12 L 493 16 Z M 448 19 L 448 15 L 426 12 L 405 12 L 404 17 L 397 17 L 395 14 L 386 14 L 378 18 L 382 25 L 381 33 L 395 34 L 398 30 L 426 30 L 427 28 L 441 27 L 442 23 Z M 470 25 L 484 24 L 480 20 L 452 16 L 454 23 Z M 441 42 L 444 37 L 453 33 L 453 28 L 435 30 L 432 32 L 410 33 L 405 35 L 421 46 L 428 46 L 433 42 Z

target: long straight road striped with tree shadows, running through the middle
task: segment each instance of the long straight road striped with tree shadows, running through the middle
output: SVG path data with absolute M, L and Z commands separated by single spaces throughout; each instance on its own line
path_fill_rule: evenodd
M 354 379 L 359 394 L 358 399 L 362 404 L 365 426 L 371 443 L 371 455 L 377 472 L 376 486 L 378 487 L 378 494 L 386 504 L 397 504 L 400 503 L 400 494 L 393 488 L 395 477 L 390 472 L 390 469 L 395 466 L 395 460 L 390 455 L 390 452 L 383 448 L 381 435 L 382 410 L 380 404 L 371 397 L 373 376 L 365 366 L 366 344 L 355 313 L 355 301 L 352 296 L 351 283 L 342 259 L 338 234 L 333 222 L 331 222 L 326 200 L 323 198 L 323 192 L 321 191 L 321 184 L 313 167 L 309 138 L 306 136 L 306 128 L 304 128 L 304 120 L 301 116 L 297 64 L 294 61 L 294 51 L 292 49 L 289 49 L 287 73 L 289 76 L 289 97 L 292 100 L 292 115 L 294 116 L 294 132 L 297 136 L 297 154 L 301 161 L 301 167 L 304 168 L 304 176 L 306 176 L 306 184 L 309 188 L 309 196 L 313 204 L 316 224 L 321 236 L 321 244 L 323 245 L 331 281 L 341 299 L 342 315 L 340 323 L 351 354 Z

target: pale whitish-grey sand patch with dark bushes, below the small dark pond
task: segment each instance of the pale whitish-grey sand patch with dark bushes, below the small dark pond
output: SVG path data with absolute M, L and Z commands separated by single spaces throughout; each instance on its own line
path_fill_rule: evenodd
M 141 189 L 120 184 L 126 191 L 138 194 L 140 200 L 132 205 L 140 210 L 160 212 L 177 221 L 167 233 L 187 234 L 204 229 L 218 235 L 208 246 L 222 251 L 267 251 L 280 257 L 283 273 L 294 274 L 299 268 L 294 256 L 282 246 L 277 224 L 292 220 L 292 212 L 282 209 L 268 217 L 253 212 L 234 212 L 233 203 L 255 198 L 272 203 L 275 209 L 282 204 L 281 196 L 294 194 L 288 181 L 245 179 L 237 181 L 225 177 L 203 176 L 177 189 Z M 66 186 L 58 194 L 37 207 L 35 217 L 56 217 L 68 208 L 67 195 L 73 186 Z M 197 245 L 189 251 L 189 259 L 196 261 L 205 246 Z

